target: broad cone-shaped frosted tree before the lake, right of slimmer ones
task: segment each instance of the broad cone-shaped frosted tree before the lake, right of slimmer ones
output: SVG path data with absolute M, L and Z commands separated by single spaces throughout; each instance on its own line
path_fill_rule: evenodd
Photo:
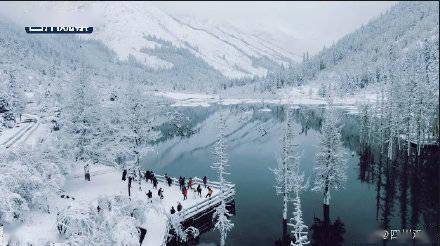
M 312 190 L 323 192 L 323 203 L 330 205 L 330 190 L 341 189 L 347 179 L 337 115 L 331 102 L 329 102 L 322 123 L 316 161 L 315 181 Z

